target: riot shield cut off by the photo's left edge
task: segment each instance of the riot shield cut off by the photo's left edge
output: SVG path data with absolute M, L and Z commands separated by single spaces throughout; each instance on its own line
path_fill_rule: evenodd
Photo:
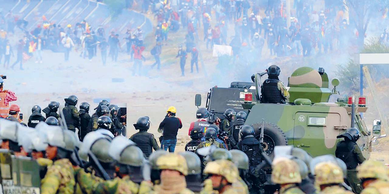
M 1 192 L 0 194 L 11 194 L 13 186 L 12 181 L 12 159 L 11 151 L 7 149 L 0 149 L 0 178 L 1 178 Z

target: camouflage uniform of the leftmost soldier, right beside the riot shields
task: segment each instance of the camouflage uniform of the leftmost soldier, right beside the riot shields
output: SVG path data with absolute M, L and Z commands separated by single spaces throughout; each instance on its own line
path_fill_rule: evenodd
M 41 194 L 73 194 L 74 170 L 69 159 L 59 159 L 47 169 L 41 182 Z

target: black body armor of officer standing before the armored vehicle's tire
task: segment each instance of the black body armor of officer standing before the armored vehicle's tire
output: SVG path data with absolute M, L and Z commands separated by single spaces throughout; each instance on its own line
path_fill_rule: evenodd
M 250 166 L 259 165 L 261 162 L 261 143 L 255 137 L 245 137 L 238 143 L 237 147 L 249 157 Z

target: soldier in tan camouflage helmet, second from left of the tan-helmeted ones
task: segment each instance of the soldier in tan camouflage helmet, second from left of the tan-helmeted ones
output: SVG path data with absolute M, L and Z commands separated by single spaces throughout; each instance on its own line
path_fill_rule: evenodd
M 204 173 L 209 175 L 209 179 L 204 181 L 203 194 L 214 193 L 209 190 L 209 185 L 212 185 L 212 189 L 220 194 L 240 193 L 233 187 L 233 184 L 239 181 L 239 172 L 231 161 L 221 159 L 209 162 L 205 166 Z

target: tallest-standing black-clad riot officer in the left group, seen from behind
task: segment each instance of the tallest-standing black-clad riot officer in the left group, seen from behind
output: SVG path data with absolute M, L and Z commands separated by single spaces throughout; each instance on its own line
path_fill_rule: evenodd
M 80 117 L 78 116 L 77 107 L 75 107 L 77 102 L 78 98 L 75 95 L 71 95 L 65 98 L 65 107 L 62 109 L 68 130 L 73 132 L 75 132 L 75 128 L 80 128 Z

